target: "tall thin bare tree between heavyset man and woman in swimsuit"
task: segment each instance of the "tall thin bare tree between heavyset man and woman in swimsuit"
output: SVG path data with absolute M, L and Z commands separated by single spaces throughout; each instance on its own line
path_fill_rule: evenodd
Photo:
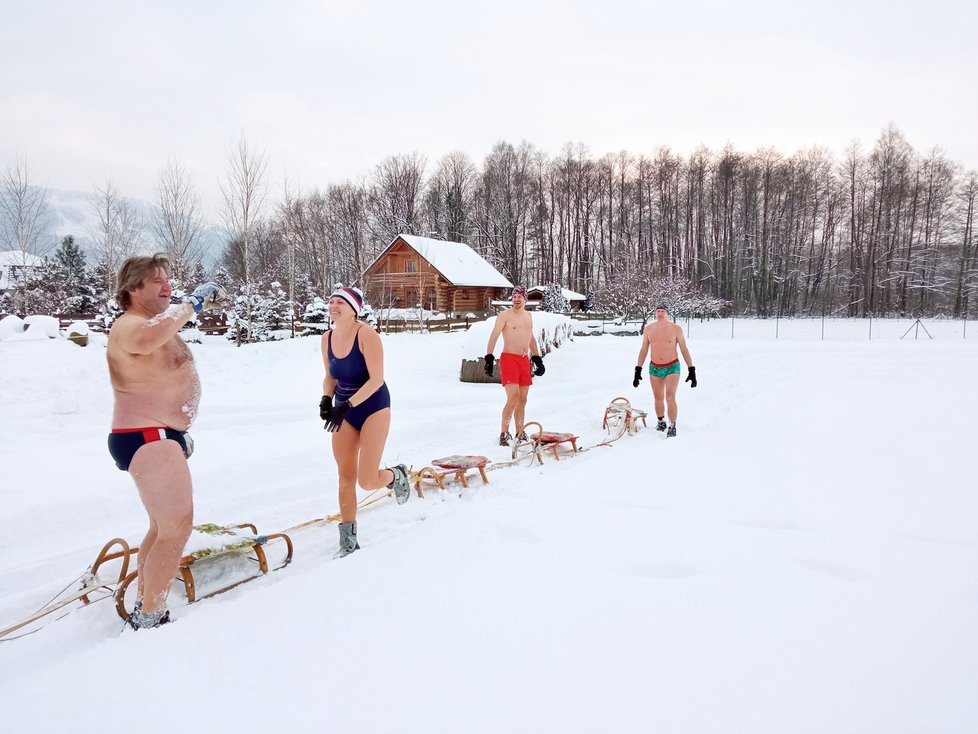
M 224 196 L 224 224 L 231 242 L 240 241 L 244 261 L 245 297 L 248 302 L 248 341 L 251 341 L 251 257 L 250 236 L 265 202 L 265 151 L 255 150 L 244 133 L 228 153 L 227 179 L 221 186 Z M 241 330 L 238 330 L 240 345 Z

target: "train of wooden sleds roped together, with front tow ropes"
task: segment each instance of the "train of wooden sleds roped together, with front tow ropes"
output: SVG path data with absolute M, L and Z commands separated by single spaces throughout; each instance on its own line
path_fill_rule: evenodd
M 425 482 L 433 482 L 441 490 L 446 489 L 446 481 L 468 488 L 469 473 L 473 471 L 478 473 L 483 486 L 488 485 L 488 471 L 520 464 L 533 466 L 534 460 L 542 465 L 544 456 L 559 461 L 561 457 L 577 456 L 598 446 L 608 446 L 624 435 L 637 433 L 639 421 L 647 426 L 646 417 L 647 414 L 633 408 L 627 398 L 617 397 L 605 409 L 602 418 L 602 428 L 608 437 L 593 446 L 579 447 L 579 435 L 545 431 L 538 421 L 529 421 L 523 430 L 526 439 L 513 445 L 511 461 L 492 462 L 485 456 L 453 454 L 433 459 L 429 466 L 418 471 L 409 469 L 409 480 L 421 498 L 425 496 Z M 365 509 L 392 496 L 393 492 L 386 487 L 374 490 L 357 503 L 357 508 Z M 187 603 L 193 604 L 281 570 L 292 562 L 292 536 L 295 533 L 340 521 L 337 513 L 270 535 L 259 534 L 251 523 L 195 525 L 180 559 L 175 579 L 180 582 L 177 588 L 182 588 Z M 0 629 L 0 642 L 33 634 L 49 622 L 106 599 L 113 599 L 119 616 L 127 619 L 135 603 L 132 584 L 138 576 L 134 568 L 138 553 L 139 548 L 130 546 L 123 538 L 108 541 L 92 565 L 46 604 L 19 622 Z

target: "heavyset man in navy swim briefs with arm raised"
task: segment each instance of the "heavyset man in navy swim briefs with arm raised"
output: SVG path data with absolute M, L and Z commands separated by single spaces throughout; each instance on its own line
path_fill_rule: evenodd
M 112 325 L 106 350 L 115 395 L 109 453 L 136 482 L 149 515 L 128 620 L 135 629 L 170 621 L 166 596 L 193 524 L 187 429 L 197 414 L 200 380 L 177 332 L 194 313 L 218 308 L 226 298 L 219 285 L 205 283 L 171 305 L 170 272 L 161 254 L 123 263 L 115 298 L 125 313 Z

